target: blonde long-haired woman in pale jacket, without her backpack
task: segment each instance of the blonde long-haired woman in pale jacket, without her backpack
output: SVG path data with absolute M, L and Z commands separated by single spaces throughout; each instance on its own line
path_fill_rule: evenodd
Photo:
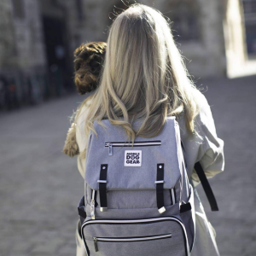
M 120 125 L 132 140 L 136 136 L 154 137 L 166 117 L 176 116 L 186 151 L 188 175 L 200 161 L 207 177 L 224 171 L 223 141 L 217 137 L 206 98 L 189 79 L 172 31 L 159 11 L 143 4 L 131 5 L 111 26 L 101 81 L 95 93 L 79 108 L 75 117 L 79 145 L 78 167 L 85 171 L 88 133 L 93 121 L 109 119 Z M 132 124 L 142 120 L 134 131 Z M 219 255 L 215 232 L 195 197 L 196 235 L 192 255 Z M 86 255 L 77 232 L 77 255 Z M 128 252 L 127 252 L 128 255 Z

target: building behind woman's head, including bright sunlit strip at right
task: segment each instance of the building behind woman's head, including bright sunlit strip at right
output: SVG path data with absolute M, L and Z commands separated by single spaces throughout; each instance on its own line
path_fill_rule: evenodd
M 256 0 L 141 0 L 139 3 L 160 9 L 171 20 L 177 46 L 195 78 L 232 78 L 256 73 Z M 113 18 L 128 6 L 125 0 L 84 1 L 83 40 L 106 40 Z

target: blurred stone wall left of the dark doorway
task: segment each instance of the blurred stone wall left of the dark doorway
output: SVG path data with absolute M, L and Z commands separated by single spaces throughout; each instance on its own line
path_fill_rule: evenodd
M 44 37 L 38 0 L 0 3 L 0 69 L 45 68 Z

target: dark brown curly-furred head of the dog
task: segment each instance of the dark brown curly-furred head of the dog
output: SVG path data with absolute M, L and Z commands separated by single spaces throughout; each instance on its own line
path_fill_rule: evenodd
M 74 83 L 79 90 L 79 94 L 96 90 L 106 49 L 106 43 L 92 42 L 81 44 L 74 51 Z

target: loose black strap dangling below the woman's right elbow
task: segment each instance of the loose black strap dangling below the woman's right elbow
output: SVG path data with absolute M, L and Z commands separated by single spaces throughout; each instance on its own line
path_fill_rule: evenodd
M 184 145 L 183 145 L 182 141 L 181 141 L 181 146 L 183 148 L 183 153 L 185 153 L 185 148 L 184 148 Z M 187 163 L 186 163 L 186 160 L 185 160 L 185 155 L 184 155 L 184 161 L 185 161 L 185 166 L 187 167 Z M 216 201 L 215 196 L 214 196 L 214 194 L 212 192 L 211 185 L 208 182 L 206 173 L 204 172 L 204 170 L 203 170 L 203 168 L 201 166 L 201 163 L 200 162 L 196 162 L 194 168 L 195 168 L 195 172 L 197 173 L 197 175 L 198 175 L 198 177 L 199 177 L 199 179 L 201 181 L 201 185 L 202 185 L 203 189 L 205 190 L 205 193 L 206 193 L 207 199 L 208 199 L 208 201 L 210 203 L 212 212 L 218 211 L 217 201 Z

